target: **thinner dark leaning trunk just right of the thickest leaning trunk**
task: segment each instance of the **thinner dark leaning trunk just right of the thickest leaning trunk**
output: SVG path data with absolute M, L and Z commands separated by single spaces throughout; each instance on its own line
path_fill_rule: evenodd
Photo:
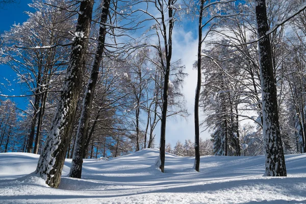
M 106 27 L 104 24 L 107 22 L 109 7 L 110 7 L 110 0 L 103 1 L 103 7 L 102 7 L 103 9 L 102 9 L 101 19 L 100 19 L 101 26 L 99 29 L 99 37 L 98 37 L 98 47 L 96 50 L 96 55 L 95 55 L 93 67 L 91 70 L 90 79 L 86 87 L 81 118 L 79 120 L 77 137 L 75 138 L 76 142 L 74 143 L 74 152 L 73 152 L 69 176 L 74 177 L 74 178 L 79 178 L 79 179 L 81 179 L 81 175 L 82 175 L 85 135 L 88 131 L 88 121 L 90 118 L 94 91 L 95 91 L 96 83 L 98 80 L 100 62 L 101 62 L 102 55 L 104 52 L 104 47 L 105 47 L 104 42 L 105 42 L 105 36 L 106 36 L 107 31 L 106 31 Z

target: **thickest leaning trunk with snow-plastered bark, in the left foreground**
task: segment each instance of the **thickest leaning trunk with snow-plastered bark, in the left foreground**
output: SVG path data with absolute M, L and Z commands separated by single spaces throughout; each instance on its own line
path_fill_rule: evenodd
M 36 168 L 38 176 L 50 187 L 57 188 L 61 181 L 67 146 L 72 132 L 75 109 L 82 86 L 87 48 L 86 37 L 90 33 L 93 0 L 83 0 L 72 42 L 70 63 L 65 75 L 57 111 L 47 134 L 45 146 Z

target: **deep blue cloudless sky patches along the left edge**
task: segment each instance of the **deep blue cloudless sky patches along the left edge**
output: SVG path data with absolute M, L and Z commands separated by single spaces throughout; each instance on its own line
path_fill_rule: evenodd
M 17 1 L 18 2 L 18 1 Z M 29 3 L 32 3 L 32 0 L 20 0 L 19 3 L 16 4 L 8 4 L 6 5 L 0 12 L 0 32 L 10 30 L 11 26 L 16 23 L 22 23 L 27 20 L 28 15 L 24 13 L 24 11 L 30 11 L 31 8 L 28 6 Z M 11 83 L 8 83 L 7 80 Z M 14 81 L 15 80 L 15 81 Z M 20 95 L 23 94 L 20 89 L 20 84 L 16 83 L 16 73 L 11 70 L 11 68 L 7 65 L 0 65 L 0 92 L 5 95 Z M 11 84 L 11 85 L 10 85 Z M 15 103 L 17 103 L 18 107 L 24 109 L 28 104 L 27 98 L 10 98 Z

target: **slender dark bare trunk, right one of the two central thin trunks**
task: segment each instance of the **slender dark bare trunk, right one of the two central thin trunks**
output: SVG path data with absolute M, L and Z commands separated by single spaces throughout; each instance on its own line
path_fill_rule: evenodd
M 201 0 L 200 15 L 199 15 L 199 33 L 198 33 L 198 61 L 197 61 L 197 84 L 195 89 L 194 99 L 194 150 L 195 150 L 195 161 L 194 169 L 200 171 L 200 127 L 199 127 L 199 99 L 201 92 L 202 74 L 201 74 L 201 60 L 202 60 L 202 16 L 203 16 L 203 5 L 204 0 Z

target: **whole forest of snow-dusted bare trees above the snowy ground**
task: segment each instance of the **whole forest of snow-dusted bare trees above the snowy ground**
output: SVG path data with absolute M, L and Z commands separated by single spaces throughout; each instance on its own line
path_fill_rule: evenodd
M 10 3 L 0 1 L 0 8 Z M 144 148 L 160 148 L 162 172 L 165 151 L 195 156 L 196 171 L 203 155 L 266 155 L 265 174 L 286 176 L 284 154 L 305 152 L 303 0 L 29 6 L 28 19 L 0 36 L 0 64 L 15 72 L 23 91 L 0 95 L 0 152 L 39 154 L 36 173 L 49 186 L 58 187 L 65 158 L 72 159 L 70 177 L 81 178 L 83 159 Z M 172 149 L 166 121 L 191 114 L 182 92 L 186 67 L 173 56 L 173 35 L 183 27 L 197 32 L 197 86 L 189 90 L 195 139 Z M 13 97 L 27 98 L 27 107 Z M 211 138 L 200 138 L 204 130 Z

